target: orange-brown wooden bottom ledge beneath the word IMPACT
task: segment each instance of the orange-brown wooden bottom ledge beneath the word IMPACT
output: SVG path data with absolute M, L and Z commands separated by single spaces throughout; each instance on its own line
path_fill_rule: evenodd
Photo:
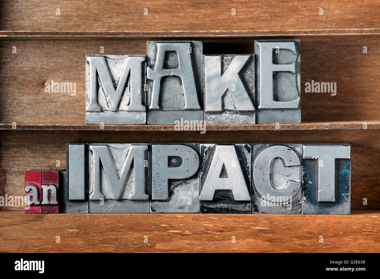
M 0 218 L 0 252 L 378 252 L 380 248 L 380 210 L 353 210 L 351 215 L 17 213 Z M 231 243 L 232 236 L 236 243 Z

